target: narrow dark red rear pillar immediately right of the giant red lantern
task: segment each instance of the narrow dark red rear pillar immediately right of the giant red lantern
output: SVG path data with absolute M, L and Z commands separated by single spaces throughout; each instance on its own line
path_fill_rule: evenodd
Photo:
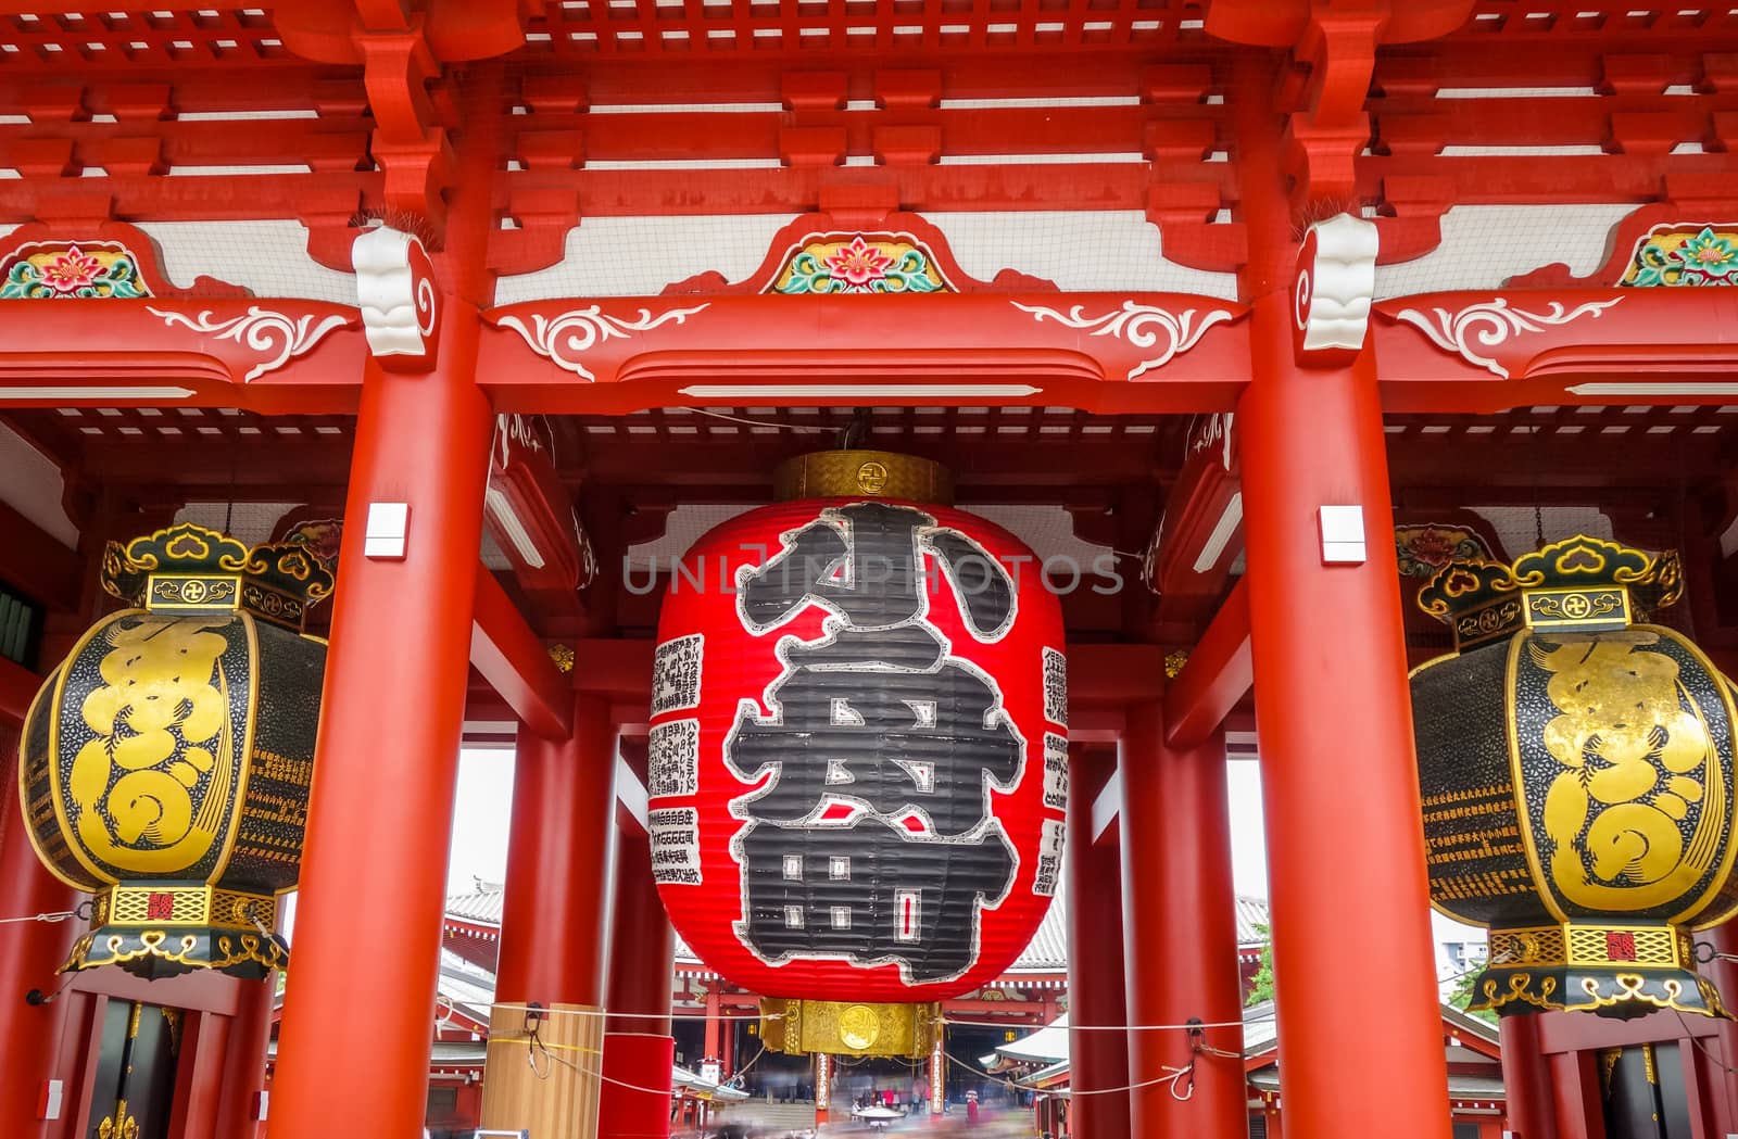
M 1091 807 L 1111 762 L 1069 748 L 1069 1078 L 1071 1132 L 1079 1139 L 1128 1139 L 1128 1038 L 1123 995 L 1123 887 L 1116 847 L 1093 844 Z M 1144 946 L 1151 953 L 1159 946 Z

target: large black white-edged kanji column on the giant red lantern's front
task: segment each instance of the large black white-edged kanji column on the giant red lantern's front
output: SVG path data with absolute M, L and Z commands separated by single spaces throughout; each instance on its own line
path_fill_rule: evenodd
M 912 983 L 977 958 L 978 910 L 1013 886 L 1015 851 L 989 809 L 1025 741 L 996 682 L 951 656 L 928 620 L 926 557 L 982 641 L 1013 623 L 1008 571 L 914 507 L 826 509 L 737 578 L 739 615 L 765 634 L 810 604 L 815 641 L 779 644 L 766 715 L 744 705 L 725 762 L 760 787 L 732 802 L 749 825 L 739 936 L 763 960 L 899 962 Z

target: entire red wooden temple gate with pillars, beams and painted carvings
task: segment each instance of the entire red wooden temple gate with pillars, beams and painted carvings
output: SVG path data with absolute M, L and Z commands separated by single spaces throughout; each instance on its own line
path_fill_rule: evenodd
M 269 983 L 70 979 L 78 922 L 9 920 L 0 1132 L 92 1134 L 137 1002 L 184 1014 L 170 1136 L 419 1136 L 457 755 L 506 741 L 483 1125 L 667 1123 L 657 597 L 848 443 L 1062 596 L 1074 1134 L 1244 1134 L 1258 755 L 1284 1130 L 1449 1139 L 1415 587 L 1679 549 L 1738 667 L 1735 134 L 1738 16 L 1646 0 L 0 0 L 0 715 L 109 540 L 337 575 L 269 1096 Z M 78 901 L 38 807 L 3 918 Z M 1503 1045 L 1524 1139 L 1606 1136 L 1642 1045 L 1684 1139 L 1738 1132 L 1729 1023 Z

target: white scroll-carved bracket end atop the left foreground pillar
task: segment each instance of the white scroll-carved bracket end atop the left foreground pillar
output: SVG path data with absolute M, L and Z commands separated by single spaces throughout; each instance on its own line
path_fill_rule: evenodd
M 382 368 L 433 366 L 440 325 L 434 266 L 414 234 L 377 226 L 349 247 L 368 351 Z

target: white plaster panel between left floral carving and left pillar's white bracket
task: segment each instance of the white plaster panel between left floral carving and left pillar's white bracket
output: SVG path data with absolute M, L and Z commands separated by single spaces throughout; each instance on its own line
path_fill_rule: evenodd
M 163 274 L 189 288 L 214 276 L 257 297 L 301 297 L 356 304 L 356 278 L 308 255 L 308 229 L 295 221 L 139 222 L 163 253 Z

